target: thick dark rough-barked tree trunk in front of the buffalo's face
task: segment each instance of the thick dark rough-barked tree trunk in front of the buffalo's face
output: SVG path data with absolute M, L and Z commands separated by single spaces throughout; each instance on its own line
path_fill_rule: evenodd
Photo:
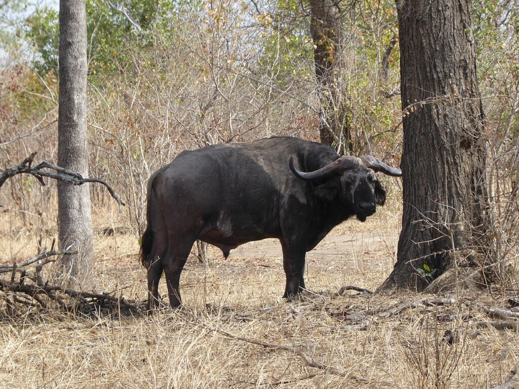
M 447 269 L 485 257 L 485 117 L 470 0 L 397 6 L 404 210 L 397 263 L 381 289 L 421 290 Z

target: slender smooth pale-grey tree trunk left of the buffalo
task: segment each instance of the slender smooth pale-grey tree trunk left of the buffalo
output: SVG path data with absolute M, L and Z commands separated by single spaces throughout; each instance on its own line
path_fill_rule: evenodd
M 59 15 L 58 165 L 88 177 L 85 0 L 60 0 Z M 58 218 L 60 247 L 79 252 L 63 257 L 64 275 L 81 286 L 89 286 L 92 217 L 88 185 L 58 183 Z

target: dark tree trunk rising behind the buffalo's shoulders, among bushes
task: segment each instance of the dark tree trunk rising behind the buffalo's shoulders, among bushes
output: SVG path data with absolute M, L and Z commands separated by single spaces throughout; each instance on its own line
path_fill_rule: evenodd
M 334 147 L 339 154 L 351 151 L 345 96 L 340 88 L 342 23 L 339 2 L 310 0 L 312 35 L 319 100 L 321 143 Z

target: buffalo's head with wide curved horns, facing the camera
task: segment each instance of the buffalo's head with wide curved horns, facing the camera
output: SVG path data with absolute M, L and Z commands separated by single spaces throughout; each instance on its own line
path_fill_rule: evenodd
M 386 191 L 378 182 L 375 173 L 401 176 L 400 169 L 391 168 L 375 157 L 340 157 L 321 169 L 302 172 L 294 166 L 293 158 L 289 161 L 290 170 L 298 178 L 315 182 L 316 196 L 328 202 L 338 201 L 360 221 L 373 215 L 376 205 L 384 205 Z

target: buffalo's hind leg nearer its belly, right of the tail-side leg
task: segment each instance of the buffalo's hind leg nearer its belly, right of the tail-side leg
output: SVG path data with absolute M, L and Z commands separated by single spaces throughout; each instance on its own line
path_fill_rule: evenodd
M 193 243 L 195 243 L 194 239 L 189 240 L 188 244 L 184 242 L 175 245 L 170 236 L 168 253 L 162 261 L 162 266 L 164 267 L 164 273 L 166 275 L 171 308 L 179 308 L 182 305 L 179 289 L 180 274 L 193 247 Z

